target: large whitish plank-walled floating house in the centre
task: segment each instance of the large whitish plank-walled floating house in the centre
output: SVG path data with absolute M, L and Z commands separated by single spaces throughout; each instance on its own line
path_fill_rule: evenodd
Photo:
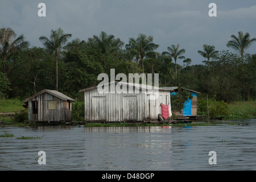
M 143 84 L 109 82 L 108 87 L 122 84 L 127 93 L 100 93 L 97 86 L 82 89 L 85 101 L 85 122 L 143 122 L 157 121 L 158 114 L 162 114 L 160 104 L 168 105 L 170 90 L 156 88 L 152 90 Z M 133 90 L 132 93 L 128 89 Z M 110 90 L 110 89 L 109 89 Z

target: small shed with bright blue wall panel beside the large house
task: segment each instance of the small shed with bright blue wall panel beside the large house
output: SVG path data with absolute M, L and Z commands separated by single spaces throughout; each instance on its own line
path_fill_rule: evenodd
M 165 89 L 170 89 L 171 90 L 171 94 L 177 94 L 178 92 L 178 87 L 177 86 L 172 86 L 172 87 L 163 87 Z M 184 103 L 184 108 L 181 111 L 181 113 L 174 113 L 175 115 L 183 115 L 183 116 L 197 116 L 197 94 L 200 94 L 200 92 L 197 92 L 195 90 L 191 90 L 191 89 L 186 89 L 186 88 L 181 88 L 181 89 L 185 89 L 188 90 L 189 92 L 191 92 L 193 98 L 192 100 L 187 100 Z

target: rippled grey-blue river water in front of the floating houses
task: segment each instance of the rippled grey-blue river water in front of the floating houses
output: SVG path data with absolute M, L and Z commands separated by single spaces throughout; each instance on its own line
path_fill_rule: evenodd
M 0 137 L 0 170 L 256 170 L 256 119 L 234 122 L 239 125 L 1 127 L 0 135 L 15 137 Z M 22 136 L 40 138 L 17 139 Z M 39 151 L 46 164 L 39 164 Z

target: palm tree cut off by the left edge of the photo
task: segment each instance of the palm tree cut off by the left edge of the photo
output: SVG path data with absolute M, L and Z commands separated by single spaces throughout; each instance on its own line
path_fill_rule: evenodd
M 5 65 L 7 58 L 18 51 L 19 49 L 27 48 L 29 43 L 24 41 L 24 36 L 19 35 L 16 38 L 15 32 L 11 28 L 0 28 L 0 53 L 3 60 L 3 71 L 5 70 Z

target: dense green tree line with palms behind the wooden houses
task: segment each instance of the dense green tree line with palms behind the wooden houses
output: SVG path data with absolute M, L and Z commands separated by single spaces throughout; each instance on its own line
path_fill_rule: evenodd
M 39 38 L 42 47 L 30 47 L 24 35 L 0 29 L 0 97 L 24 98 L 43 89 L 59 90 L 80 99 L 80 89 L 98 84 L 100 73 L 159 73 L 160 86 L 182 86 L 214 100 L 255 100 L 256 55 L 245 51 L 256 41 L 249 33 L 231 35 L 218 51 L 204 44 L 198 53 L 202 64 L 191 65 L 180 44 L 164 52 L 153 36 L 139 34 L 125 44 L 102 31 L 88 40 L 73 39 L 61 28 Z

